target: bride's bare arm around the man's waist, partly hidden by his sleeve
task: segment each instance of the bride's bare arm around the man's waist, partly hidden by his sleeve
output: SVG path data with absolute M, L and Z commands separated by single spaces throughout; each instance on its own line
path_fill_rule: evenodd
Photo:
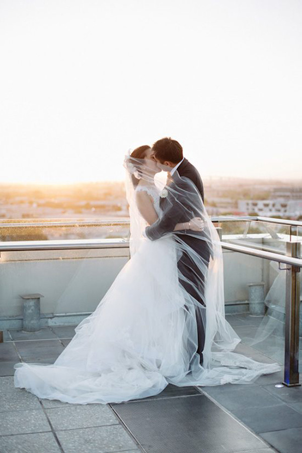
M 146 191 L 140 190 L 136 192 L 136 204 L 140 215 L 149 225 L 152 225 L 158 220 L 159 216 L 154 208 L 153 201 Z M 202 228 L 199 220 L 201 221 L 199 217 L 196 217 L 191 219 L 189 222 L 177 223 L 173 231 L 189 229 L 200 231 Z

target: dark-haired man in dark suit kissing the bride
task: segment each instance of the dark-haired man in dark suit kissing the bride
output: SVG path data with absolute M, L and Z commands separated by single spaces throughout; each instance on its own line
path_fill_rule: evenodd
M 172 206 L 171 202 L 169 206 L 168 197 L 161 198 L 160 203 L 161 208 L 163 209 L 163 216 L 153 225 L 150 225 L 145 229 L 145 235 L 150 240 L 156 240 L 165 233 L 172 232 L 178 222 L 188 222 L 192 217 L 200 216 L 200 213 L 204 209 L 202 204 L 204 203 L 204 191 L 198 171 L 185 157 L 183 157 L 182 146 L 176 140 L 172 140 L 168 137 L 158 140 L 153 145 L 152 151 L 153 157 L 160 168 L 161 165 L 165 166 L 166 170 L 167 167 L 171 168 L 168 172 L 168 176 L 171 189 L 175 187 L 175 193 L 178 194 L 175 197 L 181 198 L 181 187 L 184 187 L 185 184 L 185 193 L 192 198 L 191 201 L 184 198 L 179 200 L 175 199 Z M 194 183 L 196 190 L 192 191 L 191 185 L 186 184 L 186 180 L 183 179 L 183 177 L 189 178 Z M 194 206 L 196 207 L 195 212 Z M 205 237 L 205 233 L 202 231 L 198 233 L 194 232 L 192 235 L 184 234 L 184 232 L 181 231 L 176 231 L 174 234 L 175 239 L 178 240 L 179 237 L 178 242 L 185 242 L 189 246 L 189 249 L 192 250 L 192 254 L 196 254 L 196 256 L 199 257 L 198 259 L 200 259 L 200 262 L 203 263 L 202 266 L 198 266 L 196 264 L 196 258 L 193 260 L 188 252 L 183 251 L 177 264 L 178 269 L 182 274 L 180 284 L 185 291 L 193 296 L 202 306 L 202 309 L 195 310 L 198 335 L 197 352 L 200 355 L 200 364 L 202 365 L 206 321 L 204 283 L 205 273 L 210 260 L 210 247 L 206 240 L 202 240 L 202 237 Z M 203 268 L 203 272 L 200 270 L 201 267 Z

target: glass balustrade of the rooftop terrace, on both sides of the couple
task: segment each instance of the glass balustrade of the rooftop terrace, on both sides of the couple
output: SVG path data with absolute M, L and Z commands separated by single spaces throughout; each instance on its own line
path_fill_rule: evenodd
M 58 326 L 69 326 L 71 338 L 129 260 L 129 221 L 24 220 L 0 224 L 0 330 L 10 341 L 33 335 L 54 338 Z M 222 241 L 235 246 L 257 244 L 261 250 L 265 244 L 264 250 L 285 253 L 286 241 L 302 240 L 302 227 L 293 233 L 289 226 L 246 220 L 219 226 Z M 10 250 L 18 244 L 19 249 Z M 242 340 L 236 351 L 284 365 L 286 270 L 281 269 L 286 265 L 225 248 L 223 265 L 226 319 Z M 302 282 L 300 293 L 302 298 Z M 29 295 L 39 295 L 40 333 L 23 329 L 24 296 Z M 301 326 L 300 321 L 300 333 Z M 52 358 L 41 360 L 49 363 Z

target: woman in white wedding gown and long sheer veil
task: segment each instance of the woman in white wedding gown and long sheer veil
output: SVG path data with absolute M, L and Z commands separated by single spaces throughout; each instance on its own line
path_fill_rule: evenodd
M 124 166 L 131 258 L 53 364 L 14 365 L 15 386 L 49 400 L 106 404 L 156 395 L 169 383 L 249 383 L 280 370 L 233 352 L 241 340 L 224 316 L 219 236 L 193 182 L 175 171 L 160 186 L 160 167 L 171 168 L 147 146 L 128 154 Z M 169 216 L 179 223 L 150 240 L 148 229 Z M 206 263 L 196 252 L 205 248 Z M 184 256 L 195 280 L 179 265 Z

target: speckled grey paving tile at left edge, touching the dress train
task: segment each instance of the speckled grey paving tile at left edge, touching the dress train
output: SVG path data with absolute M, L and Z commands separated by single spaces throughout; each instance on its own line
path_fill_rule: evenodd
M 15 387 L 13 376 L 0 377 L 0 412 L 33 409 L 42 410 L 35 395 Z

